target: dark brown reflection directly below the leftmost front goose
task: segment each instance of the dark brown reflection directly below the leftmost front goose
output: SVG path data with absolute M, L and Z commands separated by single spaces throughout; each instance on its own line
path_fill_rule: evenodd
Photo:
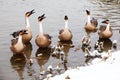
M 24 54 L 15 54 L 10 58 L 10 63 L 12 68 L 17 71 L 20 80 L 23 80 L 23 71 L 26 64 L 26 59 Z

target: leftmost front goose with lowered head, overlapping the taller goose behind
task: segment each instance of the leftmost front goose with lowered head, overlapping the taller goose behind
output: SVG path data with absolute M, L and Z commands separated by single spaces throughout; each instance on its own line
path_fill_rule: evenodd
M 25 45 L 22 41 L 22 35 L 23 34 L 27 34 L 26 32 L 19 32 L 19 36 L 18 39 L 13 39 L 11 40 L 11 51 L 13 53 L 23 53 L 24 49 L 25 49 Z

